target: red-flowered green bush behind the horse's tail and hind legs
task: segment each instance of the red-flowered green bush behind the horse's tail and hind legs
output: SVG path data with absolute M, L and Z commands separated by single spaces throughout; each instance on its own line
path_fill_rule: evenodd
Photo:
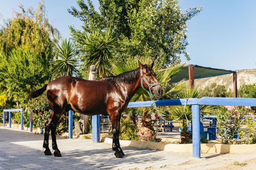
M 27 107 L 34 112 L 33 119 L 35 120 L 35 122 L 33 123 L 33 126 L 42 126 L 44 129 L 45 122 L 49 119 L 51 115 L 51 106 L 46 97 L 46 93 L 43 93 L 40 97 L 29 100 L 29 102 L 27 103 Z M 68 114 L 64 111 L 59 119 L 59 123 L 56 128 L 56 135 L 61 135 L 64 132 L 68 132 L 68 121 Z

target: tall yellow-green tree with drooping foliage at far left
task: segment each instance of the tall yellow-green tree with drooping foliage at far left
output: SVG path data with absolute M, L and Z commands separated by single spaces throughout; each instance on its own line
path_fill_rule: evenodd
M 26 103 L 30 91 L 49 80 L 48 61 L 54 51 L 59 32 L 49 22 L 45 6 L 17 12 L 0 27 L 0 90 L 17 107 Z

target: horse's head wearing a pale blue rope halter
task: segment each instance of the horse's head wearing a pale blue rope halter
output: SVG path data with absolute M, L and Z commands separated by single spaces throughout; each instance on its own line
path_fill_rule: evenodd
M 154 61 L 150 65 L 143 65 L 139 62 L 141 87 L 146 91 L 149 90 L 148 93 L 150 97 L 152 97 L 152 91 L 157 98 L 161 98 L 163 96 L 163 89 L 161 87 L 161 84 L 156 79 L 156 74 L 152 70 L 153 66 Z

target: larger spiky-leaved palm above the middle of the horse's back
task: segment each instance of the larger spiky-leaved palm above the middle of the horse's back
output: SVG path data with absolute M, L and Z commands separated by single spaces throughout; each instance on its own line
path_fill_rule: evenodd
M 95 65 L 101 78 L 107 76 L 107 67 L 113 59 L 112 52 L 117 45 L 117 36 L 113 36 L 114 30 L 110 27 L 103 32 L 94 30 L 90 34 L 84 34 L 84 50 L 86 55 L 82 57 L 82 61 L 91 65 Z

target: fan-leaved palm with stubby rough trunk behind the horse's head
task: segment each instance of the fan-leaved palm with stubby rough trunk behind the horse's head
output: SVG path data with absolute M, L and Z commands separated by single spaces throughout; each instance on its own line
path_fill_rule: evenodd
M 112 64 L 112 72 L 114 75 L 118 75 L 120 73 L 134 70 L 138 68 L 138 60 L 140 60 L 143 64 L 151 64 L 151 57 L 133 57 L 130 60 L 127 60 L 125 63 L 116 63 Z M 157 60 L 154 63 L 153 70 L 155 71 L 156 77 L 159 82 L 161 82 L 161 86 L 164 90 L 164 97 L 168 96 L 177 96 L 180 93 L 183 83 L 178 84 L 169 84 L 168 82 L 171 80 L 171 77 L 181 70 L 184 64 L 177 64 L 170 66 L 166 69 L 162 69 L 160 62 Z M 148 101 L 151 100 L 148 93 L 145 90 L 140 88 L 138 92 L 132 97 L 131 101 Z M 143 107 L 142 110 L 142 128 L 139 128 L 139 138 L 141 141 L 154 141 L 155 140 L 155 130 L 153 128 L 153 124 L 151 123 L 151 114 L 154 112 L 153 107 Z

